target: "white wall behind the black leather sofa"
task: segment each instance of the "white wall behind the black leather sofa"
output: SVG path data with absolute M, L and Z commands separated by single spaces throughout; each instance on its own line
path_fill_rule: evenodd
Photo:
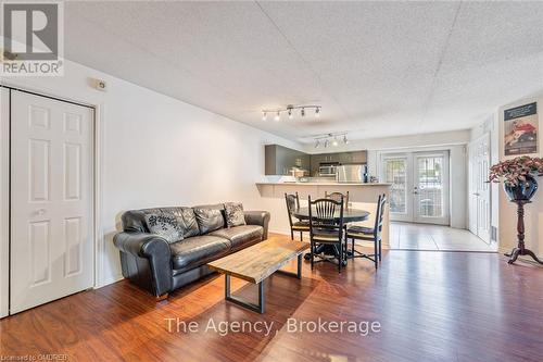
M 121 278 L 112 239 L 125 210 L 241 201 L 245 210 L 269 210 L 272 228 L 283 216 L 285 210 L 269 209 L 273 205 L 260 197 L 254 183 L 264 179 L 265 143 L 295 149 L 300 145 L 89 67 L 65 64 L 63 77 L 2 82 L 99 105 L 102 230 L 98 257 L 103 263 L 98 286 Z M 89 77 L 106 80 L 108 91 L 91 88 Z

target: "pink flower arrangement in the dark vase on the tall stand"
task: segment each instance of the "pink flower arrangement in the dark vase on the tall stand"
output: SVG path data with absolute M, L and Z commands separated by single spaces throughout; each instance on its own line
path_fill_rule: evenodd
M 507 186 L 518 186 L 528 175 L 543 176 L 543 159 L 521 155 L 502 161 L 490 167 L 489 182 L 500 183 L 504 178 Z

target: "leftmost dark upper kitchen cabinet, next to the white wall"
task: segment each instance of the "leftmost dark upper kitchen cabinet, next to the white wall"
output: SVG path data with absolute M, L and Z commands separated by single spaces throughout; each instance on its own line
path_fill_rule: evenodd
M 279 145 L 266 145 L 265 158 L 266 175 L 291 175 L 293 167 L 305 170 L 308 174 L 311 168 L 310 154 Z

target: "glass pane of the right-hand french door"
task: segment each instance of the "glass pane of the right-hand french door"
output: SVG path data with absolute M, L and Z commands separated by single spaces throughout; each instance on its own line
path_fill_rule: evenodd
M 418 198 L 420 216 L 443 216 L 443 157 L 417 158 Z

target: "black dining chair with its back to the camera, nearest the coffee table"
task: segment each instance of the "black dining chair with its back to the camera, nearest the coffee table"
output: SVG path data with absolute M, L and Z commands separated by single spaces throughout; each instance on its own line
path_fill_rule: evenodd
M 338 272 L 341 273 L 343 262 L 346 262 L 346 242 L 343 239 L 343 198 L 340 201 L 332 199 L 311 200 L 310 209 L 310 239 L 311 239 L 311 269 L 315 265 L 315 249 L 319 245 L 331 245 L 338 252 Z M 338 219 L 339 213 L 339 219 Z M 332 258 L 320 257 L 318 261 L 331 261 Z

